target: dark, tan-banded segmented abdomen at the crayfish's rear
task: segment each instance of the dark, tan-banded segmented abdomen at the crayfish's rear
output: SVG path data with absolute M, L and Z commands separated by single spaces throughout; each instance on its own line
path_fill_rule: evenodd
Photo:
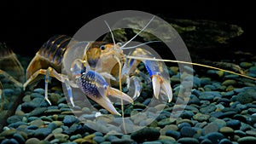
M 49 60 L 53 65 L 60 65 L 70 40 L 71 37 L 65 35 L 50 37 L 39 49 L 38 54 L 44 57 L 44 59 Z

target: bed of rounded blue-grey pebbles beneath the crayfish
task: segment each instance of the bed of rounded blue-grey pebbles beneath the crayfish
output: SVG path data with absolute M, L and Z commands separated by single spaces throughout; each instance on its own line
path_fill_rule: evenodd
M 247 75 L 256 78 L 256 63 L 242 62 L 240 66 Z M 64 94 L 55 87 L 49 90 L 52 106 L 44 101 L 44 89 L 26 91 L 15 115 L 7 119 L 0 143 L 255 144 L 255 81 L 215 70 L 206 70 L 204 76 L 194 72 L 195 76 L 180 74 L 177 67 L 171 67 L 174 99 L 167 104 L 155 104 L 147 112 L 143 110 L 154 98 L 152 87 L 145 84 L 134 105 L 125 106 L 125 117 L 129 117 L 125 129 L 131 131 L 128 134 L 121 133 L 122 121 L 108 115 L 105 109 L 99 107 L 104 115 L 97 118 L 96 112 L 88 107 L 71 109 Z M 177 97 L 182 89 L 180 78 L 184 82 L 194 80 L 186 107 L 176 105 L 183 101 Z M 4 89 L 4 93 L 14 91 Z M 178 117 L 172 111 L 175 105 L 176 112 L 184 108 Z M 116 107 L 120 112 L 120 107 Z M 82 114 L 76 117 L 73 113 Z

